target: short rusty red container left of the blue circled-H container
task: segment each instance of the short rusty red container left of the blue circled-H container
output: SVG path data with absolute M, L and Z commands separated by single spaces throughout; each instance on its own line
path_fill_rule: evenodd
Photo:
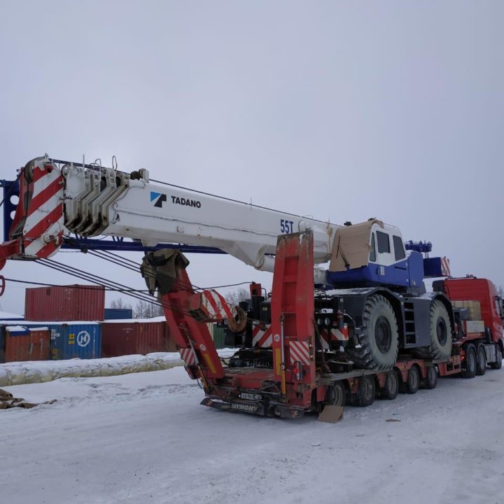
M 5 361 L 49 360 L 50 330 L 7 326 L 5 330 Z

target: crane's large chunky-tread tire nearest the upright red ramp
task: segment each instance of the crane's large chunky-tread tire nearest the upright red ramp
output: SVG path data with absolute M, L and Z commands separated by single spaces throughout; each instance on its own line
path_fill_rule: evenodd
M 358 344 L 360 348 L 346 349 L 356 367 L 386 371 L 397 360 L 398 323 L 392 305 L 382 295 L 372 295 L 365 302 Z

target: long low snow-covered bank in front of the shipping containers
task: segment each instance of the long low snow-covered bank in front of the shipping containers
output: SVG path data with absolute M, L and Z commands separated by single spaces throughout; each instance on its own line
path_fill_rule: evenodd
M 218 350 L 227 358 L 235 349 Z M 134 372 L 159 371 L 183 365 L 179 352 L 155 352 L 99 359 L 31 360 L 0 364 L 0 387 L 43 383 L 59 378 L 108 377 Z

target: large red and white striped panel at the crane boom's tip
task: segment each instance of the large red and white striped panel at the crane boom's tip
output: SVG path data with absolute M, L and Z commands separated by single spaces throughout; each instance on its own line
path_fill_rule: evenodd
M 44 160 L 34 163 L 33 194 L 23 227 L 25 255 L 48 258 L 62 244 L 64 233 L 63 177 Z

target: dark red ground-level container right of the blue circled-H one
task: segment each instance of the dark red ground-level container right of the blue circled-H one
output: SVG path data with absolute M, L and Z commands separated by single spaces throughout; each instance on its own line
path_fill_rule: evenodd
M 146 318 L 138 321 L 106 321 L 101 325 L 102 357 L 176 351 L 168 325 L 160 317 L 153 321 Z

